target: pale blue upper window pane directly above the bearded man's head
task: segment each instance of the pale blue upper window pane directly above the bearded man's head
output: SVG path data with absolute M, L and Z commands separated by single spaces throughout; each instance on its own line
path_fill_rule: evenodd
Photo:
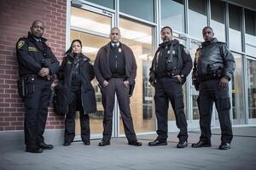
M 170 26 L 174 31 L 184 32 L 183 0 L 161 0 L 161 26 Z

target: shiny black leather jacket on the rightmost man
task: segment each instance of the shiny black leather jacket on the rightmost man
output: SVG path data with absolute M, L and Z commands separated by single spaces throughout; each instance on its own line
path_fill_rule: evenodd
M 222 70 L 222 77 L 231 79 L 235 67 L 234 56 L 226 44 L 213 38 L 210 42 L 202 42 L 201 48 L 196 50 L 192 77 L 206 76 L 211 71 Z

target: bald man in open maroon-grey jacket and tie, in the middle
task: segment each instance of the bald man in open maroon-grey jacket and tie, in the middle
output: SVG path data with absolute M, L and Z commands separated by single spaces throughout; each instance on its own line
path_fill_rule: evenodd
M 102 105 L 104 107 L 103 139 L 99 146 L 110 144 L 115 94 L 119 101 L 128 144 L 142 145 L 141 142 L 137 141 L 134 131 L 129 95 L 132 86 L 135 85 L 137 64 L 131 48 L 119 42 L 120 37 L 119 28 L 113 27 L 109 34 L 111 42 L 100 48 L 94 63 L 96 79 L 102 86 Z

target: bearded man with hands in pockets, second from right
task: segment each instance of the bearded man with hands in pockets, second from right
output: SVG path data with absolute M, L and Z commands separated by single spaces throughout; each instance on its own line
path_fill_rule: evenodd
M 149 82 L 154 86 L 155 115 L 157 118 L 158 137 L 149 146 L 166 145 L 168 133 L 168 105 L 171 101 L 176 117 L 177 148 L 188 146 L 187 121 L 184 114 L 183 88 L 186 77 L 192 69 L 192 59 L 189 51 L 172 38 L 172 28 L 165 26 L 160 31 L 162 43 L 154 54 L 150 68 Z

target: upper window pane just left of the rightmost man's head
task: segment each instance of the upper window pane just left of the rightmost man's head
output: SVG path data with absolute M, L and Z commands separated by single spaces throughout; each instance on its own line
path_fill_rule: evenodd
M 189 35 L 202 40 L 201 30 L 207 26 L 207 1 L 189 1 Z

